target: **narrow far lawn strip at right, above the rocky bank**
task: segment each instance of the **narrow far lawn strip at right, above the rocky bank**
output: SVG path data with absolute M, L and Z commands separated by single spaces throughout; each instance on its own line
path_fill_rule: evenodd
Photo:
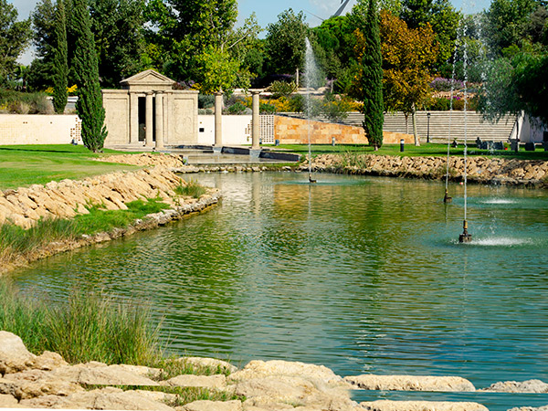
M 280 144 L 278 147 L 270 146 L 272 150 L 277 148 L 288 150 L 292 153 L 307 154 L 308 144 Z M 378 152 L 374 152 L 373 147 L 363 144 L 338 144 L 332 146 L 331 144 L 312 144 L 312 155 L 329 154 L 329 153 L 368 153 L 379 155 L 406 155 L 409 157 L 426 157 L 426 156 L 447 156 L 448 146 L 447 144 L 435 144 L 435 143 L 423 143 L 419 147 L 413 144 L 406 144 L 404 153 L 400 153 L 399 144 L 385 144 Z M 470 142 L 468 147 L 469 155 L 482 155 L 493 156 L 503 158 L 516 158 L 519 160 L 548 160 L 548 152 L 543 150 L 537 150 L 535 152 L 526 152 L 523 149 L 514 153 L 510 149 L 507 151 L 495 151 L 479 150 L 476 148 L 475 143 Z M 450 155 L 462 156 L 464 154 L 463 144 L 458 144 L 457 148 L 451 147 Z

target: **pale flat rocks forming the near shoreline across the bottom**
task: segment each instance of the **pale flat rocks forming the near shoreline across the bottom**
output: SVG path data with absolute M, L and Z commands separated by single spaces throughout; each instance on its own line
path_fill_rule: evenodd
M 197 374 L 163 376 L 142 365 L 97 362 L 68 364 L 57 353 L 34 355 L 11 332 L 0 331 L 0 407 L 132 409 L 158 411 L 488 411 L 473 402 L 378 400 L 358 404 L 353 390 L 474 392 L 458 376 L 341 376 L 315 364 L 280 360 L 251 361 L 238 369 L 213 358 L 175 361 L 196 367 Z M 213 374 L 199 374 L 209 367 Z M 223 394 L 226 401 L 184 399 L 184 390 L 199 395 Z M 548 393 L 538 380 L 505 382 L 484 391 Z M 514 408 L 533 410 L 534 408 Z M 543 411 L 545 408 L 537 408 Z

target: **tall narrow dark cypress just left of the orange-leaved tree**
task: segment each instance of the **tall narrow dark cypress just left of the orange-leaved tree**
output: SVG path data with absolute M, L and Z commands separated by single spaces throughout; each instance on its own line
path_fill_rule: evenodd
M 383 145 L 383 58 L 379 15 L 375 0 L 369 0 L 367 16 L 364 20 L 365 49 L 362 58 L 362 90 L 364 90 L 364 131 L 369 145 L 378 150 Z

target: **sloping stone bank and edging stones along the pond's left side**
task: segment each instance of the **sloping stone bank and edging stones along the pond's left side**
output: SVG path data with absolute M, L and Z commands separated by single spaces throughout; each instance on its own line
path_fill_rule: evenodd
M 158 196 L 170 205 L 168 209 L 136 220 L 126 228 L 60 239 L 23 254 L 0 255 L 0 274 L 60 252 L 163 226 L 189 214 L 205 211 L 220 199 L 216 189 L 208 189 L 205 195 L 197 199 L 176 195 L 175 187 L 184 184 L 181 177 L 158 166 L 131 173 L 103 174 L 82 181 L 63 180 L 0 191 L 0 224 L 10 221 L 24 228 L 32 227 L 40 218 L 71 218 L 78 213 L 87 214 L 88 205 L 101 205 L 106 210 L 124 210 L 127 209 L 126 203 Z

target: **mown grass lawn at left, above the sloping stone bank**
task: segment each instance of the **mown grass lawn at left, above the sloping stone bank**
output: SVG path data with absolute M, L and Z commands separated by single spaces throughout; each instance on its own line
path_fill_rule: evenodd
M 72 144 L 0 145 L 0 189 L 139 168 L 91 160 L 113 153 L 121 152 L 105 150 L 104 153 L 91 153 L 82 145 Z

